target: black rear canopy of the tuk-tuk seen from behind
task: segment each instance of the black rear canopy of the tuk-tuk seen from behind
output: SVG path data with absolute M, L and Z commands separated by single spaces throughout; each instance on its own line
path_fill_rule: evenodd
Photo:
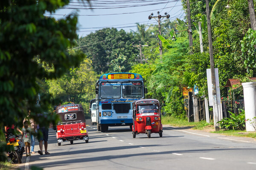
M 70 124 L 85 122 L 84 109 L 79 104 L 61 105 L 56 108 L 56 114 L 60 116 L 58 124 Z

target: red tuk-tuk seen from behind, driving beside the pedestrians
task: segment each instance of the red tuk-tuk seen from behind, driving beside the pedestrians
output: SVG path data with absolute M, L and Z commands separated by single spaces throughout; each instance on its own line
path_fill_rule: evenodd
M 61 142 L 74 140 L 85 140 L 89 142 L 88 132 L 84 117 L 84 109 L 78 104 L 61 105 L 56 108 L 56 114 L 59 115 L 61 121 L 57 125 L 57 141 L 58 146 Z

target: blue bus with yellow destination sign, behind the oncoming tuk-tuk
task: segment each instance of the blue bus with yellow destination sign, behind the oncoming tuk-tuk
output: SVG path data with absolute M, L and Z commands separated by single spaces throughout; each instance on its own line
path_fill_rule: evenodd
M 97 129 L 132 127 L 132 103 L 145 98 L 143 77 L 135 73 L 103 74 L 96 82 Z

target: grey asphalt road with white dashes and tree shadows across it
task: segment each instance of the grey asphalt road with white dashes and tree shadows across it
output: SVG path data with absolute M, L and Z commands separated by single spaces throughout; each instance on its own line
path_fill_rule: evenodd
M 109 127 L 101 133 L 87 127 L 89 143 L 82 140 L 58 146 L 55 131 L 49 130 L 50 155 L 23 156 L 22 170 L 32 166 L 44 170 L 256 170 L 256 141 L 222 136 L 200 130 L 164 127 L 163 137 L 139 134 L 129 127 Z M 39 150 L 38 142 L 35 151 Z M 25 163 L 26 162 L 26 163 Z

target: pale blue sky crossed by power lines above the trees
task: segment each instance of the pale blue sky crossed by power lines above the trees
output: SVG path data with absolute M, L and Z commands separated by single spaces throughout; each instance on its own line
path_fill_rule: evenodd
M 58 9 L 54 15 L 51 15 L 59 19 L 67 14 L 78 14 L 79 37 L 85 37 L 90 32 L 102 28 L 114 27 L 128 32 L 137 31 L 136 23 L 157 24 L 155 19 L 148 20 L 148 16 L 151 13 L 156 16 L 157 11 L 160 11 L 161 15 L 167 12 L 170 20 L 185 17 L 181 0 L 91 0 L 91 6 L 87 1 L 81 2 L 71 0 L 68 6 Z M 45 16 L 50 15 L 46 13 Z

